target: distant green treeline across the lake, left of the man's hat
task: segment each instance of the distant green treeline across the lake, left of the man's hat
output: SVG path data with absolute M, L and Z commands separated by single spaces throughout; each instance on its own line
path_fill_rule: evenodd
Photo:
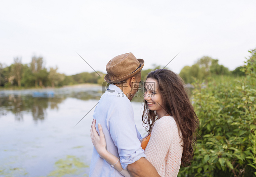
M 0 63 L 1 87 L 55 87 L 80 83 L 100 83 L 104 74 L 97 71 L 66 76 L 58 73 L 58 67 L 44 67 L 42 57 L 33 56 L 29 64 L 23 64 L 20 58 L 14 58 L 13 64 L 3 67 Z

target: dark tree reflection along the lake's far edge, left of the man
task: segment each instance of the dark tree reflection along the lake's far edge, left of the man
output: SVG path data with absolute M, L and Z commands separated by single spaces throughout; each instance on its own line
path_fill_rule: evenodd
M 0 118 L 11 112 L 15 116 L 15 120 L 23 121 L 23 115 L 31 113 L 34 123 L 37 123 L 46 118 L 46 109 L 58 110 L 58 104 L 68 97 L 80 100 L 99 100 L 102 95 L 100 88 L 57 88 L 54 90 L 54 97 L 33 97 L 34 90 L 3 90 L 0 91 Z M 41 90 L 41 92 L 43 93 L 45 91 Z M 36 93 L 40 93 L 40 91 Z

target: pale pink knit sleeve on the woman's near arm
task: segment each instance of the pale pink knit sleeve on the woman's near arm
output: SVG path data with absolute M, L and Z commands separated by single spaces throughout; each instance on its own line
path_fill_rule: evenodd
M 172 125 L 168 120 L 161 119 L 156 121 L 150 141 L 145 149 L 147 160 L 156 168 L 157 172 L 160 171 L 165 162 L 165 157 L 173 140 Z

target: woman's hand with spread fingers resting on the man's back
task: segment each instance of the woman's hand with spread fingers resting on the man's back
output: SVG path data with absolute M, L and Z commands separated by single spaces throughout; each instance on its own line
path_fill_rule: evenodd
M 97 150 L 98 154 L 100 155 L 101 158 L 104 157 L 104 155 L 106 155 L 107 150 L 106 150 L 106 140 L 105 140 L 105 136 L 103 134 L 102 131 L 102 127 L 100 124 L 98 124 L 98 128 L 99 128 L 99 133 L 96 130 L 95 127 L 96 124 L 96 119 L 93 120 L 93 124 L 91 125 L 91 133 L 90 133 L 90 137 L 91 137 L 91 142 L 93 143 L 95 149 Z

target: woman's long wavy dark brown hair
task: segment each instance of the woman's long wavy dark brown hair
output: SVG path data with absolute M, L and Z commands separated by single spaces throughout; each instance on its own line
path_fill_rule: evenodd
M 193 145 L 196 142 L 196 129 L 199 126 L 199 119 L 194 111 L 189 97 L 185 90 L 183 79 L 168 69 L 157 69 L 148 73 L 147 78 L 157 81 L 158 91 L 161 93 L 163 105 L 167 112 L 175 119 L 179 128 L 180 136 L 183 140 L 183 152 L 181 164 L 189 166 L 193 159 Z M 142 114 L 143 125 L 151 133 L 154 123 L 157 120 L 156 111 L 148 109 L 146 100 L 144 101 L 144 110 Z

